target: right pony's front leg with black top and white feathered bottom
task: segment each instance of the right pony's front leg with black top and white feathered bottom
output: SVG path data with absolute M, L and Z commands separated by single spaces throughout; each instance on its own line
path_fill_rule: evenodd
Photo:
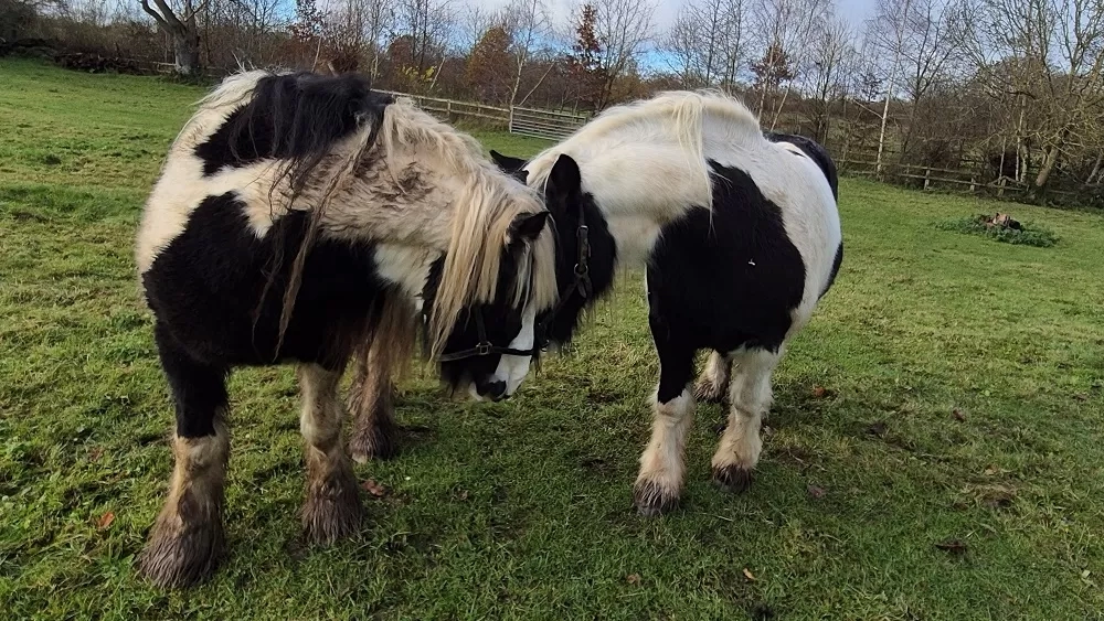
M 678 338 L 660 338 L 666 326 L 652 319 L 652 339 L 659 353 L 659 386 L 652 397 L 651 441 L 640 456 L 633 500 L 640 515 L 658 515 L 678 505 L 686 474 L 686 437 L 693 420 L 694 400 L 688 384 L 694 351 Z

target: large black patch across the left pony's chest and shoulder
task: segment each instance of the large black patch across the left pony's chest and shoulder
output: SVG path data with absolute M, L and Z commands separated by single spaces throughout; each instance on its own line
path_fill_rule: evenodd
M 204 199 L 142 275 L 159 345 L 223 370 L 284 360 L 340 368 L 389 286 L 376 275 L 373 244 L 319 238 L 277 352 L 293 253 L 309 220 L 293 211 L 258 238 L 234 192 Z

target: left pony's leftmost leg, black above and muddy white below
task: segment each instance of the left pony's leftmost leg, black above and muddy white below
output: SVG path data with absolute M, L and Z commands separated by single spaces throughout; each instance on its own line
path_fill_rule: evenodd
M 169 497 L 149 533 L 139 570 L 160 587 L 187 587 L 210 576 L 225 548 L 226 371 L 194 361 L 163 326 L 153 332 L 176 401 L 176 463 Z

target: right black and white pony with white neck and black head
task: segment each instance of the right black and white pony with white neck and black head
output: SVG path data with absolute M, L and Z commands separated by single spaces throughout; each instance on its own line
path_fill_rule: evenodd
M 555 222 L 561 300 L 551 319 L 538 315 L 538 328 L 548 326 L 539 344 L 571 339 L 615 266 L 647 269 L 660 376 L 638 511 L 678 503 L 696 397 L 728 395 L 712 474 L 726 491 L 746 489 L 771 375 L 843 256 L 827 152 L 802 137 L 764 136 L 735 99 L 665 93 L 606 110 L 529 162 L 491 154 L 544 190 Z M 573 287 L 581 280 L 587 286 Z M 712 352 L 691 392 L 699 350 Z

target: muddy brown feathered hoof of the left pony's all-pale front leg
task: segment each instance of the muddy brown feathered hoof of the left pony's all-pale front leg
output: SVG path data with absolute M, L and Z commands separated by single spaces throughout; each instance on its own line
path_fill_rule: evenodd
M 302 505 L 302 529 L 312 545 L 330 545 L 360 529 L 360 496 L 349 470 L 310 483 Z

